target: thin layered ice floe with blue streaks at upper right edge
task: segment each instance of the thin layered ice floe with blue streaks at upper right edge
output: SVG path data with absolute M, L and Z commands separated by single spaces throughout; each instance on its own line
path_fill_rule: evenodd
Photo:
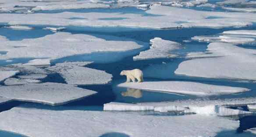
M 194 36 L 191 39 L 204 42 L 228 42 L 228 43 L 252 43 L 256 42 L 256 31 L 254 30 L 238 30 L 225 31 L 214 36 Z

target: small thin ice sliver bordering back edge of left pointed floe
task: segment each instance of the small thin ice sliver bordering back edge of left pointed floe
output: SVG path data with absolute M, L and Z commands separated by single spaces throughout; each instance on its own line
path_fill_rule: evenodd
M 5 85 L 18 85 L 18 84 L 28 84 L 28 83 L 39 83 L 41 81 L 34 79 L 18 79 L 18 78 L 8 78 L 4 81 Z

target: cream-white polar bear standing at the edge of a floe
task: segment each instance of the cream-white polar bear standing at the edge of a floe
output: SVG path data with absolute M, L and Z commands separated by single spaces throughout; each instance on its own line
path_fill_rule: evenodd
M 142 70 L 134 69 L 134 70 L 123 70 L 120 73 L 121 76 L 126 75 L 126 82 L 135 82 L 135 79 L 137 79 L 138 82 L 143 82 L 143 73 Z

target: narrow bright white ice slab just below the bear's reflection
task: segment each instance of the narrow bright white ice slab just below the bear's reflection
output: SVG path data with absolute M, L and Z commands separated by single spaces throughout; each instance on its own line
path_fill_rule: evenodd
M 104 104 L 104 111 L 149 111 L 154 110 L 153 106 L 144 106 L 128 103 L 110 102 Z

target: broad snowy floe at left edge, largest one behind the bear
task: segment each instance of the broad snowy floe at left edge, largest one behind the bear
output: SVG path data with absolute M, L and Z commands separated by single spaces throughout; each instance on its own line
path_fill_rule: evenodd
M 142 45 L 136 42 L 124 41 L 128 39 L 114 36 L 112 38 L 119 41 L 104 40 L 92 35 L 72 35 L 66 32 L 58 32 L 37 39 L 3 41 L 0 48 L 8 53 L 1 55 L 0 60 L 12 58 L 50 58 L 50 60 L 54 60 L 78 54 L 126 52 L 142 48 Z

